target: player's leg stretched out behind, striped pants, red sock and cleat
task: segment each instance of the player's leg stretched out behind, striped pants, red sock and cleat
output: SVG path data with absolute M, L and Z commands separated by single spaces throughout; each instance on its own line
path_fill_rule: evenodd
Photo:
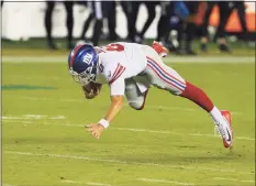
M 145 73 L 151 84 L 172 95 L 187 98 L 209 112 L 220 130 L 224 146 L 229 147 L 233 138 L 230 113 L 220 111 L 202 89 L 185 80 L 175 69 L 165 65 L 153 48 L 146 47 L 145 51 L 148 55 Z

